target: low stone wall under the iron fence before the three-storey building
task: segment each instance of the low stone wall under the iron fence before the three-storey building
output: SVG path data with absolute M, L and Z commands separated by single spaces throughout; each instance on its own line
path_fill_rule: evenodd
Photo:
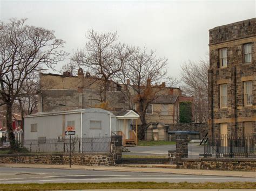
M 177 168 L 207 169 L 222 171 L 256 171 L 256 159 L 250 158 L 183 158 Z

